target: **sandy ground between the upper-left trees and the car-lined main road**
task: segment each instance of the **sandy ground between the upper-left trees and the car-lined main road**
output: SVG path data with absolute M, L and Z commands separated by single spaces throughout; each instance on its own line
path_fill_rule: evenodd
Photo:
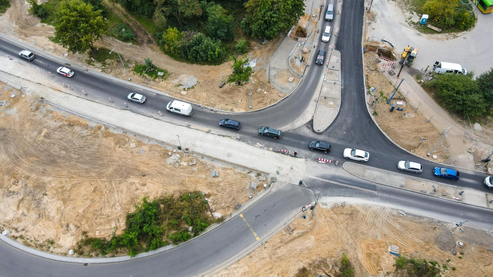
M 11 0 L 12 6 L 0 16 L 0 32 L 15 39 L 18 39 L 28 45 L 31 45 L 41 51 L 51 53 L 52 55 L 62 56 L 67 53 L 67 50 L 51 42 L 47 37 L 53 35 L 54 28 L 46 24 L 41 24 L 39 18 L 34 17 L 28 11 L 30 5 L 24 0 Z M 133 19 L 133 17 L 125 12 L 118 4 L 111 4 L 117 14 L 122 16 L 124 21 L 131 23 L 133 31 L 136 33 L 139 45 L 121 42 L 111 37 L 104 37 L 103 40 L 95 43 L 96 47 L 106 47 L 112 49 L 117 47 L 118 52 L 122 55 L 122 59 L 129 62 L 130 68 L 136 63 L 143 63 L 144 58 L 151 58 L 153 63 L 162 69 L 166 69 L 172 75 L 166 81 L 153 81 L 148 78 L 141 77 L 132 73 L 129 69 L 130 77 L 135 83 L 139 83 L 154 89 L 165 91 L 170 95 L 186 101 L 191 101 L 198 104 L 216 107 L 223 110 L 245 111 L 249 109 L 249 85 L 245 86 L 224 86 L 219 88 L 221 82 L 227 80 L 227 75 L 232 72 L 231 63 L 226 62 L 219 66 L 200 66 L 193 64 L 185 64 L 177 62 L 165 55 L 155 44 L 153 44 L 152 36 L 149 35 L 141 25 Z M 126 16 L 123 16 L 125 14 Z M 279 44 L 282 37 L 271 40 L 267 45 L 261 45 L 255 41 L 251 41 L 252 51 L 248 53 L 248 58 L 256 60 L 256 74 L 253 76 L 255 84 L 252 86 L 252 91 L 258 88 L 267 91 L 266 95 L 253 97 L 252 106 L 254 109 L 272 104 L 281 97 L 279 91 L 271 87 L 265 74 L 265 67 L 269 62 L 269 56 L 272 55 Z M 91 70 L 104 71 L 102 65 L 95 67 L 88 66 L 85 62 L 90 58 L 87 54 L 68 53 L 68 57 L 63 57 L 69 63 L 87 66 Z M 123 67 L 119 63 L 111 63 L 107 66 L 110 68 L 110 75 L 126 79 L 127 76 Z M 190 74 L 193 72 L 193 75 Z M 176 81 L 193 76 L 198 79 L 197 84 L 182 94 L 182 87 L 176 86 Z M 175 81 L 175 82 L 174 82 Z M 212 101 L 213 100 L 213 101 Z M 248 101 L 246 101 L 248 100 Z M 212 103 L 211 103 L 212 101 Z

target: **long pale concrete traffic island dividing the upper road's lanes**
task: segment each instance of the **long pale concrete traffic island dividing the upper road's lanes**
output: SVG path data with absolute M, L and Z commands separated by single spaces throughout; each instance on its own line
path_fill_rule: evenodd
M 333 50 L 325 64 L 320 94 L 314 99 L 317 102 L 313 118 L 315 132 L 323 132 L 334 121 L 341 107 L 341 52 Z

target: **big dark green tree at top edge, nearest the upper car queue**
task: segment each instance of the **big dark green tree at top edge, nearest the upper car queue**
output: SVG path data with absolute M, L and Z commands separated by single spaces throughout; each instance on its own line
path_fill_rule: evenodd
M 242 30 L 256 38 L 272 39 L 304 15 L 303 0 L 248 0 Z

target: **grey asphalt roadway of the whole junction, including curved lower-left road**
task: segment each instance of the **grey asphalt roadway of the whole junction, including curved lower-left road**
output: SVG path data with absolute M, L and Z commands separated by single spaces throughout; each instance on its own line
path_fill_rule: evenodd
M 435 177 L 431 175 L 431 169 L 438 165 L 424 159 L 417 159 L 396 147 L 373 124 L 365 107 L 365 91 L 362 77 L 362 0 L 344 1 L 343 5 L 345 11 L 351 12 L 344 12 L 341 15 L 341 26 L 336 45 L 336 49 L 340 50 L 342 54 L 343 89 L 341 110 L 334 123 L 323 134 L 317 135 L 313 132 L 310 122 L 283 132 L 282 138 L 278 140 L 260 137 L 257 134 L 260 126 L 271 126 L 283 130 L 283 127 L 290 126 L 305 111 L 310 101 L 312 101 L 312 98 L 307 96 L 311 96 L 313 91 L 317 89 L 324 72 L 324 67 L 315 65 L 315 61 L 312 61 L 312 66 L 309 67 L 305 77 L 302 79 L 300 89 L 281 103 L 268 109 L 232 115 L 215 113 L 194 106 L 194 114 L 191 117 L 166 113 L 164 120 L 178 124 L 184 124 L 185 121 L 188 121 L 190 124 L 201 125 L 211 129 L 219 128 L 217 125 L 220 118 L 230 117 L 242 122 L 242 129 L 239 134 L 242 136 L 242 140 L 249 143 L 255 141 L 267 147 L 283 149 L 289 147 L 297 149 L 299 155 L 303 156 L 305 153 L 309 155 L 313 153 L 307 149 L 310 140 L 326 140 L 332 144 L 332 151 L 327 154 L 330 159 L 341 160 L 343 159 L 342 152 L 344 148 L 356 147 L 370 152 L 370 161 L 368 162 L 370 166 L 396 170 L 397 161 L 409 159 L 423 164 L 425 171 L 420 177 L 434 180 Z M 329 45 L 326 44 L 323 47 L 328 50 Z M 1 40 L 0 51 L 15 56 L 20 51 L 20 48 L 10 42 Z M 138 110 L 144 115 L 156 115 L 157 110 L 166 112 L 165 105 L 173 100 L 154 92 L 139 91 L 121 82 L 83 70 L 75 69 L 75 75 L 70 79 L 63 77 L 56 73 L 56 68 L 61 66 L 59 63 L 53 62 L 38 53 L 36 54 L 37 57 L 32 62 L 33 66 L 51 71 L 55 74 L 56 82 L 66 82 L 70 83 L 75 89 L 84 89 L 89 93 L 89 98 L 99 100 L 102 103 L 107 103 L 107 98 L 111 97 L 115 102 L 127 102 L 134 111 Z M 147 97 L 145 104 L 140 105 L 126 100 L 126 96 L 130 92 L 136 91 Z M 234 131 L 227 132 L 236 135 Z M 441 181 L 486 191 L 482 186 L 482 179 L 486 177 L 486 174 L 467 170 L 460 171 L 460 181 L 455 183 L 445 179 Z M 324 178 L 327 176 L 318 175 L 318 177 Z M 356 186 L 377 191 L 381 201 L 399 203 L 414 208 L 427 207 L 429 210 L 443 212 L 447 212 L 447 210 L 453 212 L 460 209 L 461 212 L 470 213 L 471 216 L 480 221 L 481 217 L 489 212 L 486 209 L 452 204 L 447 201 L 437 201 L 435 198 L 418 196 L 387 187 L 380 188 L 375 184 L 358 182 L 352 178 L 348 179 L 347 177 L 339 176 L 335 176 L 335 178 L 341 178 L 339 179 L 340 182 L 350 182 Z M 357 189 L 337 188 L 322 181 L 312 181 L 308 185 L 313 185 L 326 196 L 342 195 L 344 193 L 352 195 L 349 191 L 355 191 L 354 196 L 375 197 L 375 194 L 371 192 L 365 191 L 364 195 L 359 195 L 361 192 Z M 244 212 L 245 218 L 257 235 L 262 237 L 282 223 L 283 220 L 286 220 L 290 214 L 301 206 L 312 202 L 313 195 L 311 193 L 308 189 L 301 190 L 287 185 L 283 186 L 246 209 Z M 204 270 L 211 269 L 229 259 L 232 255 L 241 252 L 248 245 L 254 243 L 254 239 L 251 230 L 238 217 L 228 221 L 213 232 L 174 248 L 168 253 L 157 254 L 138 261 L 132 260 L 90 266 L 48 261 L 16 250 L 1 242 L 1 253 L 8 253 L 8 255 L 3 255 L 2 259 L 0 259 L 0 267 L 2 269 L 0 276 L 190 276 L 200 274 Z

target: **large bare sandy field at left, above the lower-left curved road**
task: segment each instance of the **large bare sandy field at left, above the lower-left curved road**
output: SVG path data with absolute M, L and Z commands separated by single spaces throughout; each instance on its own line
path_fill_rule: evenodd
M 27 245 L 65 254 L 82 231 L 121 232 L 142 197 L 204 191 L 227 215 L 248 201 L 249 175 L 53 109 L 34 96 L 0 99 L 0 228 Z M 131 149 L 131 143 L 136 147 Z M 192 166 L 178 165 L 197 159 Z M 211 178 L 211 171 L 219 177 Z M 255 192 L 254 192 L 255 193 Z

